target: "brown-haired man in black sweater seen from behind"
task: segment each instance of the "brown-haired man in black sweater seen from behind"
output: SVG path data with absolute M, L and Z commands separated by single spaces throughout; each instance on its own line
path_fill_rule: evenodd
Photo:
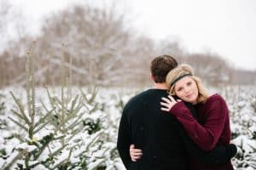
M 217 146 L 209 152 L 199 149 L 173 116 L 160 111 L 161 98 L 168 95 L 166 75 L 176 66 L 176 59 L 169 55 L 153 59 L 150 78 L 154 88 L 137 94 L 125 105 L 119 124 L 117 149 L 127 169 L 187 170 L 189 156 L 217 164 L 236 154 L 236 146 L 232 144 Z M 195 114 L 193 107 L 188 107 Z M 143 150 L 143 156 L 137 161 L 131 161 L 131 144 Z

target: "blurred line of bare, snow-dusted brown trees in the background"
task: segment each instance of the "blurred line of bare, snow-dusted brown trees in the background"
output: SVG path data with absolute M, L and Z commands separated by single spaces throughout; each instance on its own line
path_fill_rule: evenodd
M 26 84 L 26 55 L 32 42 L 37 85 L 60 85 L 64 62 L 67 82 L 73 85 L 145 86 L 150 84 L 149 63 L 160 54 L 192 65 L 195 74 L 212 86 L 256 82 L 256 71 L 237 70 L 218 54 L 189 54 L 172 39 L 154 42 L 126 23 L 125 14 L 116 7 L 75 5 L 51 15 L 44 20 L 40 36 L 20 37 L 0 54 L 0 87 Z

